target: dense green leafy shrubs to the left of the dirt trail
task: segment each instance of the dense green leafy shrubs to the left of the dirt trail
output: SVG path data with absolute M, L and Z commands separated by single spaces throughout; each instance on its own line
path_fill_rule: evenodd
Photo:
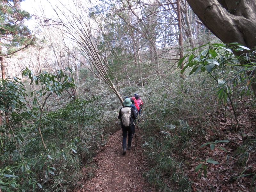
M 115 132 L 114 118 L 105 114 L 108 103 L 99 95 L 68 95 L 63 87 L 75 88 L 73 79 L 61 71 L 27 71 L 35 84 L 32 91 L 16 78 L 1 82 L 1 109 L 9 120 L 0 127 L 1 190 L 71 190 L 82 167 L 92 166 L 92 158 Z

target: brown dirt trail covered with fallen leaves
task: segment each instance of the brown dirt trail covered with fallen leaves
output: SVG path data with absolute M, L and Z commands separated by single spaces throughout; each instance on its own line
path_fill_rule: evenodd
M 120 131 L 113 134 L 107 145 L 94 158 L 98 166 L 94 172 L 94 178 L 83 183 L 82 188 L 77 192 L 154 192 L 154 189 L 148 187 L 142 176 L 147 161 L 141 148 L 140 136 L 140 130 L 136 129 L 137 146 L 134 137 L 132 149 L 127 150 L 126 155 L 122 155 Z

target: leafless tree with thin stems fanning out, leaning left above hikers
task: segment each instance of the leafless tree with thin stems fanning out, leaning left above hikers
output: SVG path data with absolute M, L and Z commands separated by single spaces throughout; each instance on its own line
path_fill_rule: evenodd
M 54 21 L 52 25 L 61 25 L 65 28 L 67 36 L 76 42 L 80 50 L 98 72 L 98 74 L 95 73 L 95 75 L 108 84 L 121 103 L 123 103 L 121 95 L 110 79 L 111 71 L 109 70 L 108 60 L 106 56 L 99 53 L 96 41 L 97 38 L 95 38 L 94 35 L 97 31 L 93 31 L 93 25 L 86 17 L 87 10 L 80 1 L 76 1 L 74 5 L 76 12 L 72 12 L 72 10 L 67 7 L 65 7 L 64 10 L 53 7 L 53 10 L 58 15 L 59 21 Z M 91 70 L 89 67 L 87 68 Z

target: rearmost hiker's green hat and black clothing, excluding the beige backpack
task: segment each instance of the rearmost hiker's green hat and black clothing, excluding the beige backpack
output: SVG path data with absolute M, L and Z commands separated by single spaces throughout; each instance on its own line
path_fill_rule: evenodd
M 122 108 L 119 110 L 119 115 L 118 115 L 118 119 L 121 120 L 121 127 L 123 130 L 123 155 L 126 154 L 126 137 L 127 137 L 127 132 L 128 132 L 128 144 L 127 144 L 127 149 L 131 149 L 132 147 L 132 130 L 133 130 L 133 125 L 134 125 L 134 121 L 136 119 L 136 113 L 135 110 L 133 108 L 131 108 L 131 100 L 130 98 L 126 98 L 123 102 L 124 104 L 124 108 L 129 107 L 131 110 L 131 116 L 130 116 L 130 125 L 128 127 L 125 127 L 122 121 Z

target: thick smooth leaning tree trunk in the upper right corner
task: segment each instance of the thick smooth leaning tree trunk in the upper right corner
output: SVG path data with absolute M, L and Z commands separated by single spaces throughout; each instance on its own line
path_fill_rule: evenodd
M 223 43 L 256 46 L 255 0 L 187 0 L 193 11 Z M 240 55 L 241 52 L 234 52 Z M 256 84 L 252 83 L 256 97 Z

